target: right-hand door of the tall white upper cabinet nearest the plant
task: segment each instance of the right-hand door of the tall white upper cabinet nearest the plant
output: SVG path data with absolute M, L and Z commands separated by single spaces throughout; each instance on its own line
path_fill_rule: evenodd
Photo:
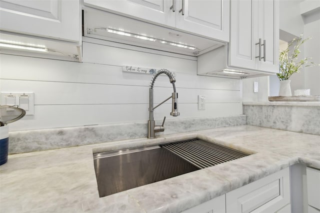
M 265 58 L 259 61 L 258 69 L 278 72 L 279 25 L 276 19 L 279 1 L 258 0 L 256 3 L 258 4 L 258 13 L 256 15 L 258 19 L 258 37 L 255 40 L 258 42 L 259 38 L 261 38 L 262 42 L 265 41 L 263 47 L 261 47 L 261 54 Z

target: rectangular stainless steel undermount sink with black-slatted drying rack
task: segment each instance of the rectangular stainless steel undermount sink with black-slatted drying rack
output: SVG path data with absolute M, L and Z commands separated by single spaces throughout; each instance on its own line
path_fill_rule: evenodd
M 248 155 L 198 138 L 93 154 L 99 196 Z

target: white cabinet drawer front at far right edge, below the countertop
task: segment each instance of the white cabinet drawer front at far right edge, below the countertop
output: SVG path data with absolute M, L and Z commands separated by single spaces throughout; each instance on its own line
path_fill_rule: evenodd
M 320 209 L 320 170 L 306 167 L 308 204 Z

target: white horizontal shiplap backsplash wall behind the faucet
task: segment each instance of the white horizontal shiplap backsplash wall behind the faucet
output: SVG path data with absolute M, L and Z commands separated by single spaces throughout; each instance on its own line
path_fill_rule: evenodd
M 115 47 L 118 45 L 122 48 Z M 155 119 L 242 114 L 241 81 L 196 75 L 195 57 L 167 56 L 97 39 L 83 42 L 82 51 L 83 63 L 0 55 L 0 91 L 34 92 L 35 114 L 11 123 L 10 130 L 146 121 L 152 75 L 122 72 L 122 65 L 167 68 L 176 73 L 180 116 L 169 116 L 169 100 L 155 109 Z M 160 75 L 155 81 L 154 102 L 161 102 L 171 92 L 167 76 Z M 197 109 L 198 94 L 206 96 L 205 110 Z

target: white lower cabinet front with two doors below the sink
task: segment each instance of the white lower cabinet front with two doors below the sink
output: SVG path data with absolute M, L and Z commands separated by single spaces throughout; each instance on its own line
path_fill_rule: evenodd
M 290 213 L 289 167 L 183 211 L 193 212 Z

